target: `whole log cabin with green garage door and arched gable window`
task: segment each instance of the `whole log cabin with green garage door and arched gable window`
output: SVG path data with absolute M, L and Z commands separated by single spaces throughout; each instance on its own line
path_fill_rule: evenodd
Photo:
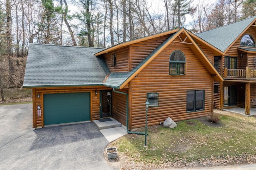
M 33 127 L 113 117 L 128 130 L 212 113 L 216 47 L 184 28 L 107 49 L 31 44 L 24 87 Z

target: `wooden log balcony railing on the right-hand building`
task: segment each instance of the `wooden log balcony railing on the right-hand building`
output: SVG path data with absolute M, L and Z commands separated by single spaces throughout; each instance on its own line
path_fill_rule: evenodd
M 223 78 L 241 78 L 241 79 L 251 79 L 256 78 L 256 69 L 251 69 L 246 67 L 246 69 L 227 69 L 224 68 Z

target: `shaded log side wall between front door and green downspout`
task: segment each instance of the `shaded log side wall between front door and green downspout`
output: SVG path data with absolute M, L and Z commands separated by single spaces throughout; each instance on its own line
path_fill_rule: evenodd
M 128 90 L 118 90 L 128 93 Z M 126 95 L 113 91 L 113 118 L 126 125 Z

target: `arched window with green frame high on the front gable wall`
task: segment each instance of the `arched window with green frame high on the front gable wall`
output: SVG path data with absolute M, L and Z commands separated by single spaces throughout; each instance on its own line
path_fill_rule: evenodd
M 179 50 L 173 51 L 169 59 L 169 74 L 184 75 L 185 74 L 186 57 Z

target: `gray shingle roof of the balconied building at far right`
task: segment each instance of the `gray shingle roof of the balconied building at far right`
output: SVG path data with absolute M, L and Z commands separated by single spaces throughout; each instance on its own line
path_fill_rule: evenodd
M 253 16 L 196 35 L 225 53 L 255 20 L 256 16 Z

